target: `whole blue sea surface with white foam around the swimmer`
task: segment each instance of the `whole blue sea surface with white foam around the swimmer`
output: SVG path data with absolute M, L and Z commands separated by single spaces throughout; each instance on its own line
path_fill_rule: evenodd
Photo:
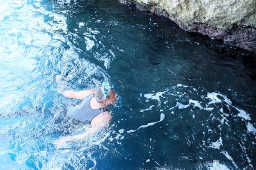
M 255 56 L 118 1 L 0 2 L 1 169 L 255 169 Z M 109 80 L 108 128 L 61 90 Z

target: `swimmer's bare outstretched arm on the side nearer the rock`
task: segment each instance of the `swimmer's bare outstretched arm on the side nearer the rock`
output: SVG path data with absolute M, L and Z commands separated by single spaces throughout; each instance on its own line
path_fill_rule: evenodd
M 75 90 L 66 90 L 62 92 L 63 96 L 73 98 L 73 99 L 84 99 L 84 97 L 94 94 L 95 89 L 90 89 L 90 90 L 83 90 L 83 91 L 75 91 Z

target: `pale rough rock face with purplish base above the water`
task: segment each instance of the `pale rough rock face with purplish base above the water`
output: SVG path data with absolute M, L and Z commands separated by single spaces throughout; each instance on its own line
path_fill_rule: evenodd
M 180 28 L 256 52 L 256 0 L 120 0 L 163 15 Z

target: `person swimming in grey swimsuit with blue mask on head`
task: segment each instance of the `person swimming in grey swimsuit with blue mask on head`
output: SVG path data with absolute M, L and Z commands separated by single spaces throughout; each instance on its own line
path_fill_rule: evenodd
M 108 82 L 104 81 L 102 86 L 99 86 L 96 90 L 90 89 L 80 92 L 67 90 L 62 94 L 65 97 L 83 100 L 81 104 L 68 110 L 67 116 L 89 123 L 91 127 L 83 134 L 61 137 L 55 141 L 56 146 L 61 146 L 69 141 L 87 138 L 109 124 L 111 113 L 109 113 L 107 106 L 116 103 L 117 94 L 111 89 Z

